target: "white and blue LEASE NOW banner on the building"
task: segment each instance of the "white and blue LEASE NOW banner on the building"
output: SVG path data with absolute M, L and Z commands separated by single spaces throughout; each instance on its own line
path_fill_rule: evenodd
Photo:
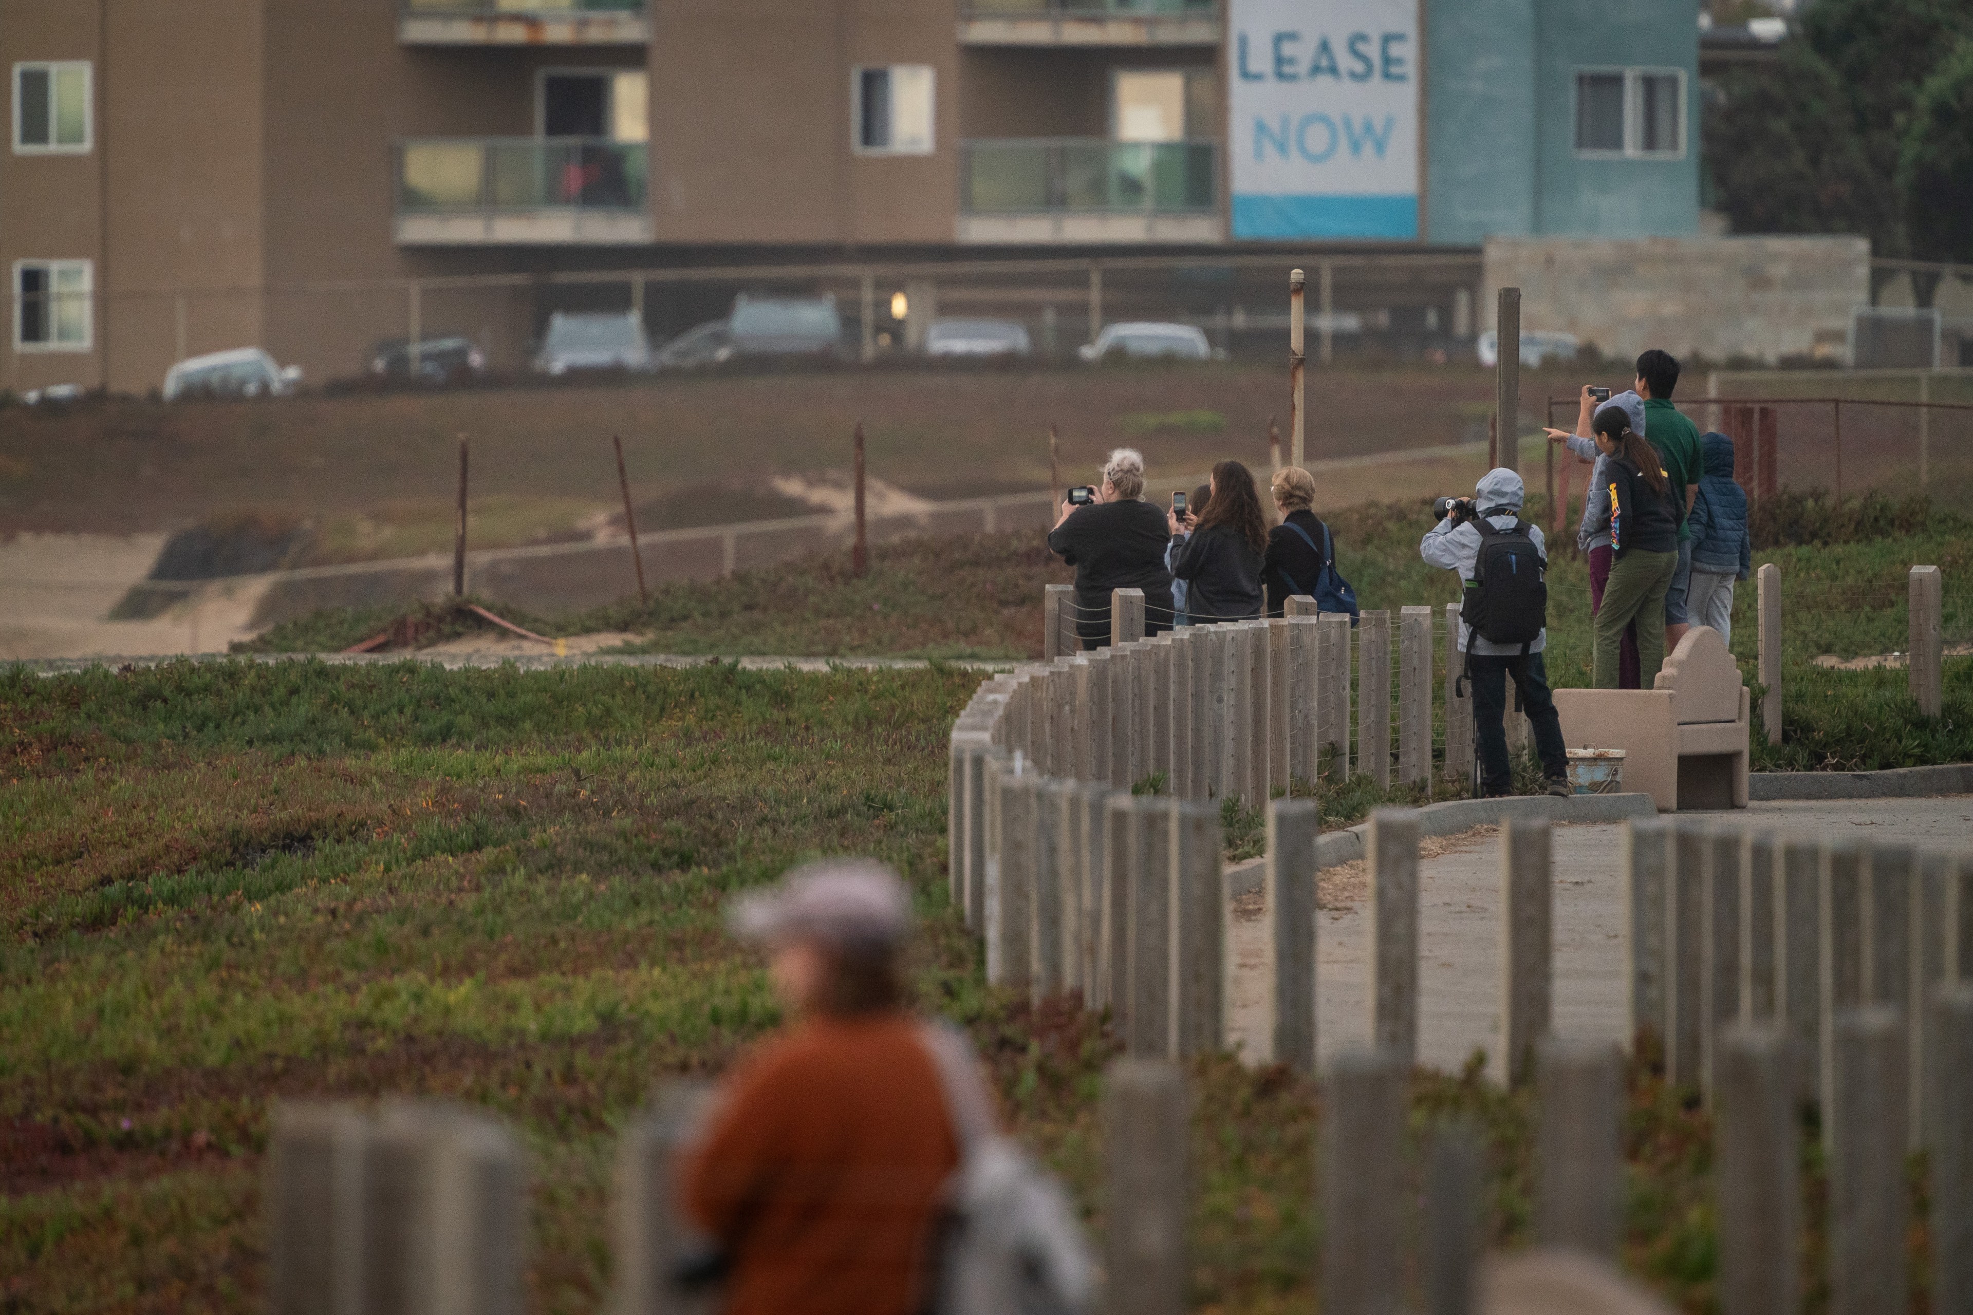
M 1231 0 L 1237 239 L 1419 237 L 1419 0 Z

